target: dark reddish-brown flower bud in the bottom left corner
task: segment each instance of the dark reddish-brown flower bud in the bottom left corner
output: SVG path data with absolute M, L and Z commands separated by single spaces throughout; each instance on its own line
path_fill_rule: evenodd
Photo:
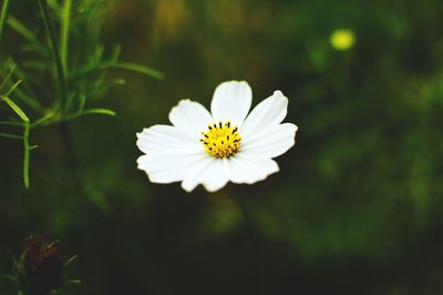
M 27 294 L 43 295 L 62 284 L 63 261 L 60 242 L 49 234 L 29 236 L 17 266 L 21 287 Z

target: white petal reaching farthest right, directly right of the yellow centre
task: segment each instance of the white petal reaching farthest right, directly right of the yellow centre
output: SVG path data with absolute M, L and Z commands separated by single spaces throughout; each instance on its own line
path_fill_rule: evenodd
M 296 143 L 297 126 L 291 123 L 268 128 L 260 136 L 243 138 L 240 152 L 245 155 L 276 157 L 286 153 Z

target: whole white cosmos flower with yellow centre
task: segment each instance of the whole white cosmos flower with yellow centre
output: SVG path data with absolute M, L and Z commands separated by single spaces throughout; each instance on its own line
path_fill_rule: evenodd
M 275 91 L 248 115 L 253 91 L 245 81 L 228 81 L 214 92 L 210 113 L 200 103 L 182 100 L 169 112 L 173 125 L 154 125 L 137 133 L 145 154 L 138 169 L 151 182 L 182 182 L 190 192 L 198 184 L 215 192 L 229 181 L 253 184 L 279 171 L 272 160 L 295 144 L 297 126 L 280 124 L 288 99 Z

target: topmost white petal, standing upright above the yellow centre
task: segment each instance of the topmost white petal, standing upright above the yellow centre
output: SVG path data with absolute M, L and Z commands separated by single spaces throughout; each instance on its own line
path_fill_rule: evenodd
M 253 91 L 246 81 L 228 81 L 219 84 L 213 96 L 210 112 L 214 121 L 230 120 L 241 125 L 253 102 Z

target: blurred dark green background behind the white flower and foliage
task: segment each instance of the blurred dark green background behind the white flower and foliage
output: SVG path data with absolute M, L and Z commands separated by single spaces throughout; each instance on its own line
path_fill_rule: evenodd
M 441 1 L 102 6 L 100 40 L 165 78 L 113 71 L 126 84 L 90 106 L 116 116 L 35 130 L 29 190 L 22 143 L 0 139 L 1 273 L 8 248 L 49 231 L 79 254 L 66 277 L 82 284 L 60 294 L 443 294 Z M 10 12 L 42 31 L 37 1 Z M 334 43 L 337 30 L 354 42 Z M 3 39 L 20 65 L 20 38 Z M 168 123 L 181 99 L 209 106 L 226 80 L 247 80 L 254 105 L 277 89 L 289 98 L 299 131 L 281 171 L 215 194 L 151 184 L 135 133 Z

